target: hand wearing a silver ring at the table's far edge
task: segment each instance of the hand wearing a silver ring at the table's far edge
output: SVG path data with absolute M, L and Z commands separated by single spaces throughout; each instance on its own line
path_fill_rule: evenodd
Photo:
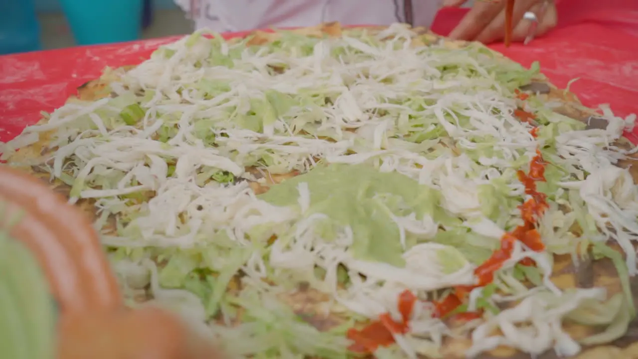
M 466 0 L 444 0 L 443 6 L 460 6 Z M 455 40 L 491 43 L 505 37 L 505 0 L 475 0 L 474 6 L 452 30 L 449 37 Z M 522 42 L 528 36 L 533 22 L 523 20 L 523 14 L 536 14 L 538 27 L 535 36 L 542 35 L 556 26 L 556 5 L 551 0 L 516 0 L 512 15 L 512 41 Z

